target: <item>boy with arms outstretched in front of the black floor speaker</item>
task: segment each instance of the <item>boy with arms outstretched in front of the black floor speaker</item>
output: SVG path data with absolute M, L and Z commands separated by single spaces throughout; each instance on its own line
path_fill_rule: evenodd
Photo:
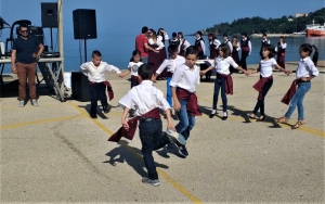
M 98 50 L 92 52 L 91 62 L 81 64 L 81 72 L 88 76 L 90 90 L 90 117 L 98 118 L 96 109 L 98 101 L 101 100 L 104 113 L 108 113 L 110 105 L 107 103 L 106 87 L 112 91 L 109 82 L 105 78 L 106 72 L 116 72 L 119 77 L 123 74 L 116 66 L 102 62 L 102 53 Z

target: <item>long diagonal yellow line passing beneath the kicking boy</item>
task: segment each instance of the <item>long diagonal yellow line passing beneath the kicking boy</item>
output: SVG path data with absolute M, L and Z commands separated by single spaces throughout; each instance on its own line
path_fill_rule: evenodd
M 80 109 L 78 105 L 76 105 L 73 102 L 69 102 L 69 104 L 72 104 L 72 106 L 74 106 L 76 110 L 78 110 L 80 113 L 82 113 L 83 115 L 88 116 L 88 113 Z M 107 129 L 104 125 L 102 125 L 99 120 L 93 119 L 91 117 L 89 117 L 91 120 L 93 120 L 93 123 L 95 125 L 98 125 L 102 130 L 104 130 L 106 133 L 108 133 L 109 136 L 112 136 L 114 132 L 112 132 L 109 129 Z M 135 157 L 138 157 L 139 160 L 142 160 L 142 156 L 140 154 L 138 154 L 134 150 L 132 150 L 130 146 L 128 146 L 127 144 L 125 144 L 123 142 L 118 142 L 119 144 L 121 144 L 123 148 L 126 148 L 128 151 L 130 151 Z M 186 195 L 191 201 L 193 201 L 194 203 L 200 204 L 203 202 L 200 202 L 198 199 L 196 199 L 194 195 L 192 195 L 188 191 L 186 191 L 182 186 L 180 186 L 177 181 L 174 181 L 172 178 L 170 178 L 167 174 L 165 174 L 162 170 L 157 168 L 157 173 L 165 178 L 168 182 L 170 182 L 176 189 L 178 189 L 181 193 L 183 193 L 184 195 Z

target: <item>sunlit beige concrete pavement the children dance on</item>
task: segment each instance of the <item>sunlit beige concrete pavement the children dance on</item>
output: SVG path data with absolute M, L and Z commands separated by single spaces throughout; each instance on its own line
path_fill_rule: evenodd
M 21 109 L 13 92 L 1 98 L 1 203 L 324 203 L 324 67 L 320 72 L 304 99 L 307 124 L 296 130 L 297 110 L 288 124 L 273 122 L 288 109 L 280 101 L 294 75 L 274 72 L 264 122 L 247 117 L 258 74 L 233 75 L 227 120 L 208 117 L 214 77 L 202 81 L 204 115 L 187 141 L 188 157 L 154 153 L 160 187 L 141 182 L 146 173 L 138 131 L 132 141 L 107 141 L 120 127 L 116 105 L 129 90 L 126 78 L 107 74 L 114 107 L 98 119 L 89 117 L 89 102 L 60 102 L 39 88 L 40 106 Z M 155 86 L 166 92 L 165 80 Z

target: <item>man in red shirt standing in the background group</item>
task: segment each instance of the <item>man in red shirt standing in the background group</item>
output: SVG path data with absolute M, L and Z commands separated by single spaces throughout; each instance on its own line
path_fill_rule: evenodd
M 148 28 L 146 26 L 142 27 L 141 34 L 139 36 L 136 36 L 135 38 L 135 50 L 139 50 L 141 53 L 141 62 L 147 64 L 147 51 L 152 50 L 154 52 L 159 52 L 158 50 L 155 50 L 153 48 L 151 48 L 147 44 L 147 38 L 146 38 L 146 33 L 147 33 Z

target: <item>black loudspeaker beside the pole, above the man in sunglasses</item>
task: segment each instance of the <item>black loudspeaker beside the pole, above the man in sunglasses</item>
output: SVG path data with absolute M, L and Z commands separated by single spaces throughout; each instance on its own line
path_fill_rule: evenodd
M 41 3 L 42 27 L 57 27 L 57 3 Z

